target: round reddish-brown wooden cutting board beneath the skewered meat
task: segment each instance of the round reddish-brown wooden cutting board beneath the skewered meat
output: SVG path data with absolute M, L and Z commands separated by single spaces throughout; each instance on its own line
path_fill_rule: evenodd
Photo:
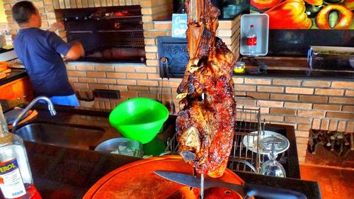
M 184 174 L 193 174 L 193 168 L 185 163 L 180 156 L 152 157 L 135 161 L 110 172 L 97 181 L 84 195 L 84 199 L 98 198 L 182 198 L 183 193 L 190 188 L 173 183 L 154 174 L 154 171 L 175 171 Z M 241 184 L 239 176 L 227 169 L 220 181 Z M 193 190 L 194 192 L 198 190 Z M 198 194 L 198 193 L 197 193 Z M 176 195 L 178 195 L 176 197 Z M 188 197 L 183 194 L 184 198 Z M 236 198 L 241 198 L 238 194 Z

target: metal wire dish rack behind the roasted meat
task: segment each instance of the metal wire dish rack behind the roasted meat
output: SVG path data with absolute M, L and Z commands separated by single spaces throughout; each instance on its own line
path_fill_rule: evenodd
M 258 138 L 261 135 L 261 105 L 251 96 L 236 96 L 236 130 L 227 168 L 258 173 L 261 168 Z M 249 146 L 246 143 L 254 143 Z M 164 154 L 178 152 L 177 135 L 167 140 Z M 263 159 L 263 158 L 262 158 Z

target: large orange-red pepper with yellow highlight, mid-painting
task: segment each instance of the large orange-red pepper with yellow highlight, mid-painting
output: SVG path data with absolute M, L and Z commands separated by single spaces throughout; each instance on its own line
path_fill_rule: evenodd
M 270 29 L 309 29 L 312 21 L 307 18 L 302 0 L 283 1 L 278 6 L 265 11 L 269 16 Z

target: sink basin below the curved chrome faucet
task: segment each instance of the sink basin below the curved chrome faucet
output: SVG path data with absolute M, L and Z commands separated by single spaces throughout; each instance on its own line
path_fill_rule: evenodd
M 76 149 L 95 147 L 104 132 L 100 127 L 48 123 L 31 123 L 16 130 L 26 141 Z

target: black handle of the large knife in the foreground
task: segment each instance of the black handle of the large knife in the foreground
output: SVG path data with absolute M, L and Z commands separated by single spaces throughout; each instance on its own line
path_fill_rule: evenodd
M 243 186 L 245 198 L 258 196 L 267 199 L 307 199 L 306 195 L 285 188 L 261 186 L 252 183 L 244 183 Z

